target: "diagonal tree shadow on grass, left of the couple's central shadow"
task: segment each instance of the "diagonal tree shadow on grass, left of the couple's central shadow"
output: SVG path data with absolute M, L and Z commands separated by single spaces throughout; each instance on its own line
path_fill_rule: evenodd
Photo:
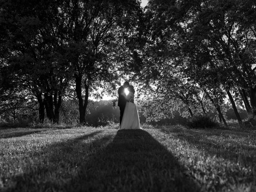
M 63 185 L 66 180 L 70 180 L 86 158 L 96 152 L 94 148 L 110 140 L 109 135 L 100 140 L 94 139 L 101 132 L 89 132 L 74 139 L 53 143 L 38 152 L 31 152 L 28 155 L 29 163 L 23 168 L 24 173 L 6 178 L 8 182 L 4 183 L 4 187 L 0 186 L 0 191 L 65 191 Z

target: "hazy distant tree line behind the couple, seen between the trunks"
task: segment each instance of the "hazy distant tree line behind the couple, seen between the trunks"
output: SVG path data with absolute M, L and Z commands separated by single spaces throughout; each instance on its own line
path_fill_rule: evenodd
M 119 124 L 120 110 L 118 107 L 113 107 L 113 102 L 115 102 L 115 100 L 89 100 L 89 104 L 86 110 L 86 123 L 89 126 L 106 126 L 112 125 L 113 123 Z M 61 109 L 62 122 L 67 124 L 77 124 L 77 116 L 79 114 L 79 111 L 74 106 L 76 106 L 76 101 L 67 100 L 63 102 L 63 108 Z M 140 109 L 140 106 L 138 106 L 141 124 L 146 123 L 151 125 L 187 125 L 190 120 L 190 117 L 187 118 L 186 116 L 182 116 L 183 114 L 178 110 L 174 111 L 172 117 L 169 116 L 168 118 L 152 120 L 151 118 L 148 118 L 148 116 L 144 116 L 143 112 L 140 111 Z M 247 116 L 246 110 L 241 110 L 240 114 L 242 119 L 246 118 Z M 216 116 L 216 111 L 208 113 L 208 116 L 214 119 L 214 117 Z M 224 112 L 224 116 L 227 120 L 236 118 L 232 107 L 228 108 L 228 105 L 227 110 Z

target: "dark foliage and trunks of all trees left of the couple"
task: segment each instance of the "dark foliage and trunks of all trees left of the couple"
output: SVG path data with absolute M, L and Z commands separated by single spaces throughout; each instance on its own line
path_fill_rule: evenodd
M 140 14 L 138 0 L 1 2 L 1 92 L 18 86 L 36 98 L 40 122 L 46 110 L 58 123 L 75 91 L 84 123 L 88 97 L 112 93 L 126 71 Z

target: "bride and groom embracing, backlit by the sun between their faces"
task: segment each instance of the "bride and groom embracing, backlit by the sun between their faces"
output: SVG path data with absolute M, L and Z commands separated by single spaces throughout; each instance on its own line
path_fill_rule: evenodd
M 124 90 L 128 89 L 126 95 Z M 120 108 L 120 129 L 141 129 L 136 104 L 134 104 L 134 87 L 128 81 L 118 89 L 118 106 Z

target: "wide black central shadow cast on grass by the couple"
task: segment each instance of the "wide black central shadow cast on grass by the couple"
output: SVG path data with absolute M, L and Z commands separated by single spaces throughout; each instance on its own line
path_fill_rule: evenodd
M 198 185 L 164 146 L 144 130 L 118 130 L 81 166 L 67 191 L 196 192 Z

